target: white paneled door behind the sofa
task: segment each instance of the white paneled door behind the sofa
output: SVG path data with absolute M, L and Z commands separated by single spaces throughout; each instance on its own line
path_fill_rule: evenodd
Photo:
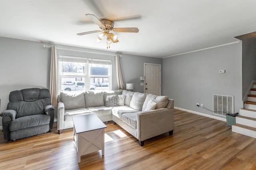
M 145 93 L 161 95 L 161 64 L 144 63 L 145 79 L 144 87 Z

